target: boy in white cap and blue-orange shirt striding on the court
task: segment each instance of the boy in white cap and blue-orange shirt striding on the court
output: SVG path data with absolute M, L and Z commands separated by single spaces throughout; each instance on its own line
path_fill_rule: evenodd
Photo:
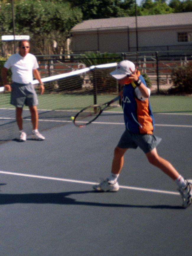
M 192 180 L 184 179 L 167 160 L 160 157 L 156 147 L 161 138 L 153 135 L 154 118 L 149 103 L 150 90 L 133 62 L 123 60 L 110 73 L 124 85 L 121 92 L 122 108 L 126 130 L 114 150 L 111 173 L 105 181 L 94 185 L 97 191 L 115 192 L 119 189 L 118 176 L 123 167 L 123 157 L 128 148 L 138 146 L 146 154 L 149 163 L 160 168 L 175 181 L 183 199 L 183 207 L 187 208 L 192 202 Z

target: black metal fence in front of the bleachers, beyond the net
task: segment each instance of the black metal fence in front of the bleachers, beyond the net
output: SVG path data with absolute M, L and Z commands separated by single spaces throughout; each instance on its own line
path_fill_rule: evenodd
M 152 89 L 157 93 L 171 87 L 171 73 L 175 67 L 186 65 L 192 62 L 192 51 L 144 51 L 116 53 L 117 57 L 90 58 L 91 63 L 111 63 L 128 59 L 133 61 L 141 73 L 147 74 L 152 84 Z M 81 54 L 64 55 L 37 55 L 42 77 L 49 77 L 55 74 L 71 72 L 85 68 L 87 58 Z M 2 66 L 2 62 L 0 63 Z M 2 86 L 2 81 L 1 81 Z

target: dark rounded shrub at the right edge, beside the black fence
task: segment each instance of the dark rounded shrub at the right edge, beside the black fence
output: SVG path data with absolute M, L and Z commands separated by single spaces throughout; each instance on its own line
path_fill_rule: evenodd
M 192 63 L 189 62 L 184 66 L 174 68 L 171 79 L 173 86 L 168 93 L 192 93 Z

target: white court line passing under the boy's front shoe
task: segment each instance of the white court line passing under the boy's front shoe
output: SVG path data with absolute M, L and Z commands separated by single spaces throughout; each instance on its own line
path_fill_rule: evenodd
M 73 182 L 73 183 L 80 183 L 80 184 L 89 184 L 89 185 L 99 184 L 99 183 L 89 182 L 89 181 L 74 180 L 74 179 L 62 179 L 62 178 L 56 178 L 56 177 L 39 176 L 39 175 L 16 173 L 16 172 L 10 172 L 10 171 L 0 171 L 0 173 L 1 174 L 16 175 L 16 176 L 23 176 L 23 177 L 30 177 L 30 178 L 38 178 L 38 179 L 50 179 L 50 180 L 57 180 L 57 181 L 63 181 L 63 182 Z M 154 193 L 170 194 L 170 195 L 180 195 L 178 192 L 159 190 L 159 189 L 147 189 L 147 188 L 129 187 L 129 186 L 119 186 L 119 187 L 123 188 L 123 189 L 132 189 L 132 190 L 139 190 L 139 191 L 145 191 L 145 192 L 154 192 Z

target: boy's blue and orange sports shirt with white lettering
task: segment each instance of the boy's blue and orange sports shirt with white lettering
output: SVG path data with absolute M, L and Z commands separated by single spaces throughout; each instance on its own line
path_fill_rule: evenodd
M 147 86 L 142 75 L 139 75 L 139 79 Z M 125 126 L 130 132 L 152 134 L 154 131 L 154 116 L 149 98 L 145 100 L 138 99 L 135 88 L 133 82 L 123 88 L 122 108 Z

